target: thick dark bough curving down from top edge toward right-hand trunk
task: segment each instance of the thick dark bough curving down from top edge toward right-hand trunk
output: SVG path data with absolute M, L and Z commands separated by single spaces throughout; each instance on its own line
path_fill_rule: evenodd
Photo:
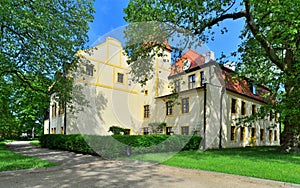
M 249 0 L 245 0 L 245 8 L 246 8 L 246 22 L 247 25 L 255 37 L 255 39 L 261 44 L 261 46 L 264 48 L 265 52 L 267 53 L 267 56 L 270 58 L 270 60 L 279 67 L 282 71 L 285 69 L 283 62 L 280 60 L 280 58 L 276 55 L 275 50 L 270 45 L 270 43 L 266 40 L 264 35 L 259 32 L 259 28 L 254 23 L 253 16 L 251 14 L 250 10 L 250 2 Z

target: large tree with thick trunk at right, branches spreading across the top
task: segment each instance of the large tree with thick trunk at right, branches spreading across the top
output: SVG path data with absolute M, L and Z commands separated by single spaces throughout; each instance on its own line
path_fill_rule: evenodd
M 299 11 L 300 4 L 294 0 L 130 0 L 124 10 L 127 22 L 167 23 L 190 31 L 203 41 L 213 38 L 212 27 L 222 21 L 242 19 L 243 42 L 231 55 L 240 56 L 240 74 L 268 86 L 275 94 L 277 103 L 269 105 L 281 114 L 284 123 L 284 151 L 299 150 Z M 128 48 L 129 55 L 134 54 L 132 46 Z

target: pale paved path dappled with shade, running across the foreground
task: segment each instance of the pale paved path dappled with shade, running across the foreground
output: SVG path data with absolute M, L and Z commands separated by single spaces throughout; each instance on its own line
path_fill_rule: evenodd
M 48 150 L 28 142 L 9 147 L 18 153 L 61 164 L 58 167 L 0 173 L 0 187 L 185 187 L 277 188 L 300 185 L 222 173 L 182 169 L 137 161 L 107 161 L 99 157 Z

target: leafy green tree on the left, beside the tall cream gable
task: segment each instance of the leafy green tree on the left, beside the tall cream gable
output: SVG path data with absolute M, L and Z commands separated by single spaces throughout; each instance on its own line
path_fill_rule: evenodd
M 70 97 L 72 79 L 66 73 L 76 68 L 76 53 L 88 40 L 93 2 L 0 2 L 0 99 L 6 105 L 1 127 L 42 124 L 52 93 Z

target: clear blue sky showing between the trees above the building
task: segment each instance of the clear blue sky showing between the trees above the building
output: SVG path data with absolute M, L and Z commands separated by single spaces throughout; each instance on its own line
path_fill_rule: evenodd
M 90 30 L 88 32 L 90 41 L 88 46 L 92 46 L 98 38 L 105 34 L 112 32 L 122 26 L 127 25 L 123 17 L 123 9 L 127 6 L 128 0 L 96 0 L 94 22 L 90 23 Z M 215 58 L 219 58 L 223 52 L 229 55 L 230 52 L 237 50 L 240 44 L 240 31 L 243 29 L 242 20 L 227 20 L 220 25 L 220 28 L 227 26 L 229 32 L 220 34 L 216 30 L 215 40 L 209 41 L 207 47 L 215 53 Z

